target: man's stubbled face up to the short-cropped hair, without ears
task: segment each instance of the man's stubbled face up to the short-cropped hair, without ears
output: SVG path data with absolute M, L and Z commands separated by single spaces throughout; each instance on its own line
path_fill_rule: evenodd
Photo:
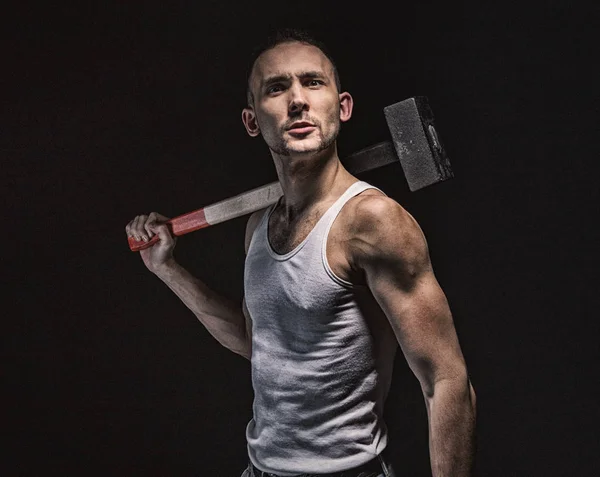
M 260 133 L 275 153 L 316 153 L 335 141 L 340 95 L 333 66 L 317 47 L 291 42 L 267 50 L 250 86 Z

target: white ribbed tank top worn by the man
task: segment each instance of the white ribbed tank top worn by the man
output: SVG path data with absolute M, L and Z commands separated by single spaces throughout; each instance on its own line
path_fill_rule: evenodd
M 251 240 L 244 291 L 254 415 L 246 438 L 250 460 L 265 472 L 339 472 L 387 445 L 382 415 L 397 342 L 369 289 L 337 277 L 326 256 L 340 210 L 369 188 L 352 184 L 285 255 L 268 240 L 275 205 Z

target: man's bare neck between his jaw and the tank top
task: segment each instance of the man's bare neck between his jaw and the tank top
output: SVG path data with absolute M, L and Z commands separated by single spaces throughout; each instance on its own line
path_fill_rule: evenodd
M 282 212 L 293 220 L 315 203 L 339 195 L 354 180 L 337 155 L 335 143 L 315 155 L 280 156 L 273 154 L 277 176 L 283 190 Z

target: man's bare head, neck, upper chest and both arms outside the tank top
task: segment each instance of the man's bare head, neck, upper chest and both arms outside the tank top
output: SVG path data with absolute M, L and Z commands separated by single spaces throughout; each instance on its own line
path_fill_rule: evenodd
M 263 52 L 250 77 L 251 101 L 242 121 L 269 147 L 283 197 L 269 222 L 278 253 L 299 244 L 323 213 L 358 179 L 341 164 L 336 138 L 352 116 L 353 99 L 337 89 L 333 66 L 315 46 L 290 41 Z M 248 220 L 245 248 L 263 211 Z M 223 346 L 251 358 L 245 308 L 212 292 L 173 257 L 175 239 L 156 213 L 134 218 L 128 236 L 160 242 L 140 252 L 146 267 L 181 298 Z M 446 297 L 416 220 L 376 190 L 352 198 L 327 240 L 334 273 L 367 285 L 425 398 L 434 477 L 472 475 L 476 404 Z

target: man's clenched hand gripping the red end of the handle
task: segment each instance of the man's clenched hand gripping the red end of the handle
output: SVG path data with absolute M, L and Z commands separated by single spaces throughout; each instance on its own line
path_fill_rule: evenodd
M 158 235 L 159 241 L 153 246 L 140 250 L 140 256 L 144 265 L 152 273 L 158 273 L 165 266 L 173 262 L 173 250 L 177 243 L 177 237 L 171 234 L 165 222 L 168 217 L 157 212 L 151 212 L 150 215 L 138 215 L 125 227 L 127 237 L 133 237 L 135 240 L 148 242 L 154 235 Z

